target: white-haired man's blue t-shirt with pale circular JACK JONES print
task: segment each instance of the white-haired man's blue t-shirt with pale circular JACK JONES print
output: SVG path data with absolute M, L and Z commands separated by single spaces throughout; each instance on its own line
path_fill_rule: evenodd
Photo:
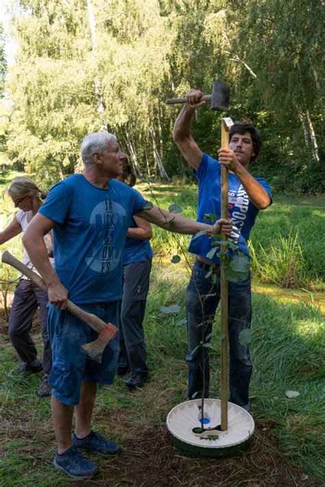
M 76 304 L 122 297 L 122 256 L 132 216 L 145 206 L 141 194 L 117 180 L 108 188 L 74 174 L 53 186 L 40 213 L 53 228 L 55 269 Z

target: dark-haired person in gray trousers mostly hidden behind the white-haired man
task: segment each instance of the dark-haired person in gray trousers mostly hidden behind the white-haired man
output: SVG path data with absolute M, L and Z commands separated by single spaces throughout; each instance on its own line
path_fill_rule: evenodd
M 121 182 L 133 187 L 136 176 L 125 157 Z M 120 352 L 117 375 L 123 377 L 130 371 L 125 384 L 141 388 L 147 379 L 145 336 L 143 318 L 152 268 L 152 228 L 149 222 L 134 216 L 128 229 L 123 253 L 123 298 L 120 318 Z

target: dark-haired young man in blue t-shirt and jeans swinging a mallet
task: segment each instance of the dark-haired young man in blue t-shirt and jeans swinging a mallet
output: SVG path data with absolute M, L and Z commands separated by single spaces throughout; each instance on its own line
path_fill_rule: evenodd
M 272 203 L 269 185 L 262 178 L 254 178 L 248 171 L 250 162 L 261 150 L 261 136 L 249 121 L 237 121 L 230 128 L 229 147 L 218 151 L 218 161 L 204 154 L 191 136 L 191 121 L 197 108 L 204 105 L 203 93 L 190 90 L 186 95 L 186 105 L 180 111 L 173 127 L 173 139 L 178 145 L 199 184 L 197 221 L 204 222 L 204 215 L 220 217 L 221 165 L 229 169 L 228 213 L 233 220 L 230 239 L 238 241 L 239 250 L 249 256 L 248 238 L 259 210 Z M 219 265 L 215 254 L 206 259 L 211 250 L 208 238 L 198 237 L 191 241 L 189 252 L 196 254 L 191 281 L 186 294 L 186 318 L 189 367 L 189 399 L 208 397 L 209 367 L 208 348 L 206 358 L 206 387 L 203 391 L 201 326 L 205 326 L 205 337 L 211 333 L 212 320 L 220 298 L 220 277 L 210 273 L 212 264 Z M 209 274 L 208 274 L 209 273 Z M 206 275 L 208 274 L 208 276 Z M 215 282 L 214 282 L 215 281 Z M 208 296 L 206 296 L 208 295 Z M 202 298 L 204 316 L 202 317 Z M 230 402 L 249 409 L 249 385 L 252 376 L 252 361 L 249 346 L 239 343 L 239 333 L 250 328 L 252 320 L 250 278 L 240 283 L 228 283 L 228 339 L 230 345 Z M 201 324 L 201 326 L 200 326 Z M 204 340 L 204 343 L 208 340 Z

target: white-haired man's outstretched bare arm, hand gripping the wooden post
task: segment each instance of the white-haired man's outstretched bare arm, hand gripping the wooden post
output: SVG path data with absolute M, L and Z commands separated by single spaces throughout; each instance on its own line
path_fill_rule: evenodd
M 184 218 L 178 213 L 170 213 L 170 211 L 154 206 L 150 210 L 143 210 L 138 213 L 138 216 L 147 220 L 147 222 L 164 228 L 169 232 L 183 233 L 185 235 L 194 235 L 201 230 L 208 230 L 208 233 L 213 235 L 230 235 L 232 230 L 232 221 L 230 219 L 219 219 L 214 225 L 206 223 L 193 222 L 191 219 Z

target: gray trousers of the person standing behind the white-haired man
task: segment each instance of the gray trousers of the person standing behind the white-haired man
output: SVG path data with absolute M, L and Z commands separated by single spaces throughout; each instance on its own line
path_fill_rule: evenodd
M 119 326 L 118 368 L 147 375 L 143 318 L 149 289 L 151 259 L 123 265 L 123 298 Z

